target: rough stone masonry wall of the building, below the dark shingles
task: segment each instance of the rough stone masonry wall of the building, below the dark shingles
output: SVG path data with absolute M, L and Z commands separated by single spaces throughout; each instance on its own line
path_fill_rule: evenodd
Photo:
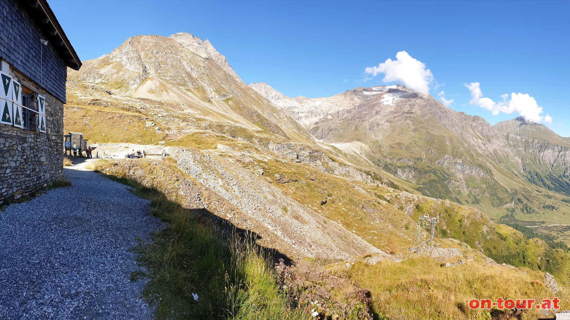
M 63 175 L 63 102 L 10 67 L 17 81 L 32 84 L 46 97 L 46 133 L 36 120 L 26 130 L 0 124 L 0 205 L 53 183 Z M 37 110 L 37 93 L 30 94 L 30 108 Z M 34 131 L 35 130 L 35 131 Z

